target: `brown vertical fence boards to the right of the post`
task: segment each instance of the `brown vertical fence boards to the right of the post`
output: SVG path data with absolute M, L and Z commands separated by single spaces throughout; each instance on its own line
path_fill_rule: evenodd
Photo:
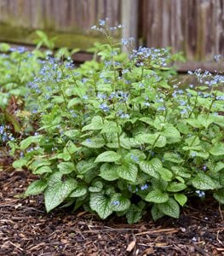
M 142 0 L 141 36 L 147 46 L 172 46 L 189 60 L 224 54 L 223 0 Z

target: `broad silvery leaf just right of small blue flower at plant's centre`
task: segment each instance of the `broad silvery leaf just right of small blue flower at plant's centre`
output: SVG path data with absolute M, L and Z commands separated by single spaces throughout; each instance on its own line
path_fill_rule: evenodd
M 146 174 L 159 178 L 158 169 L 162 168 L 163 164 L 157 158 L 153 158 L 150 161 L 143 160 L 139 163 L 141 171 L 145 172 Z

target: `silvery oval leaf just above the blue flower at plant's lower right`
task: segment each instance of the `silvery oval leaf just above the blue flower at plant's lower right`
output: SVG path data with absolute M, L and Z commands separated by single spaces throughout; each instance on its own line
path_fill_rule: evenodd
M 214 181 L 204 173 L 198 173 L 196 177 L 192 179 L 192 185 L 194 188 L 200 190 L 216 189 Z

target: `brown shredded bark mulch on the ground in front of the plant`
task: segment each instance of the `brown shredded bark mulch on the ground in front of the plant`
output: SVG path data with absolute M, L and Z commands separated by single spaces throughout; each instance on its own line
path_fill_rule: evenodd
M 185 208 L 179 219 L 130 225 L 88 212 L 47 214 L 41 196 L 14 197 L 34 178 L 0 172 L 0 255 L 224 255 L 223 213 L 212 199 Z

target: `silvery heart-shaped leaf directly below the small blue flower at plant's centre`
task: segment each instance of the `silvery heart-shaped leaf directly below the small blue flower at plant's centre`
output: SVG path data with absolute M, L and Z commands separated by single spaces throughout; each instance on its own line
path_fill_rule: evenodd
M 138 167 L 134 164 L 119 166 L 117 172 L 119 177 L 135 183 L 138 175 Z

